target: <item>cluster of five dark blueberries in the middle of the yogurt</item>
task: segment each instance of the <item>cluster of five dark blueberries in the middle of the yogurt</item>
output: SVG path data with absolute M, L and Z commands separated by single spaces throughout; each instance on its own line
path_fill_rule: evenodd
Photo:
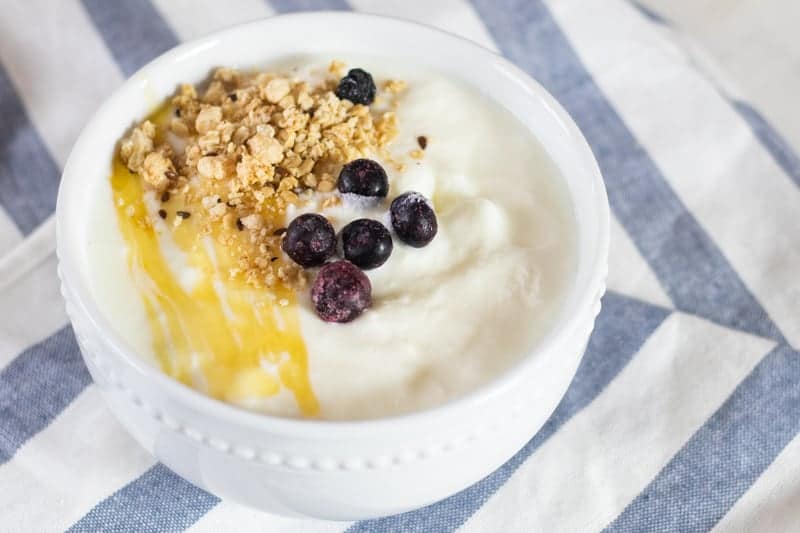
M 342 167 L 337 187 L 341 193 L 385 198 L 389 179 L 376 161 L 356 159 Z M 438 231 L 430 202 L 417 192 L 395 198 L 389 215 L 397 238 L 415 248 L 427 245 Z M 281 246 L 300 266 L 322 266 L 311 287 L 311 301 L 320 318 L 327 322 L 350 322 L 372 303 L 372 286 L 363 270 L 384 264 L 394 244 L 386 226 L 368 218 L 347 224 L 338 240 L 343 260 L 326 262 L 336 254 L 336 232 L 324 216 L 307 213 L 289 224 Z

